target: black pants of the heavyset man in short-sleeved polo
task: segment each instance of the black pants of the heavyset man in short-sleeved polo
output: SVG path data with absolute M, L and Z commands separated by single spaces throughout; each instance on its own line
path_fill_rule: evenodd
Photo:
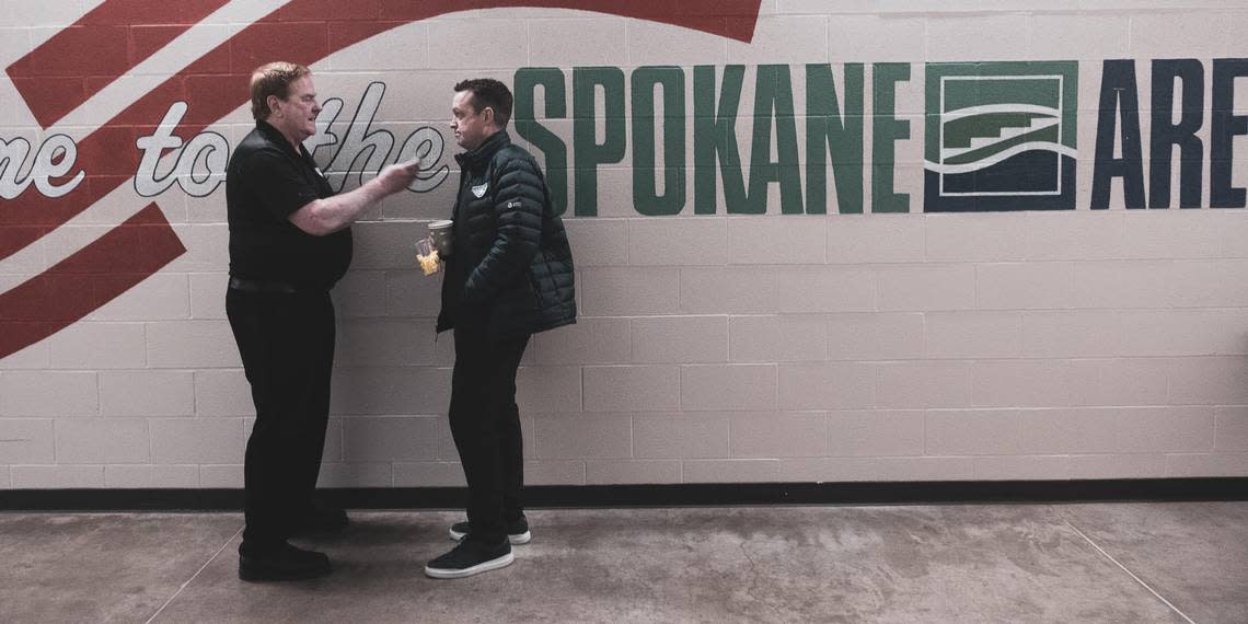
M 227 290 L 226 314 L 256 403 L 243 468 L 246 549 L 290 537 L 312 507 L 329 421 L 333 303 L 327 292 Z

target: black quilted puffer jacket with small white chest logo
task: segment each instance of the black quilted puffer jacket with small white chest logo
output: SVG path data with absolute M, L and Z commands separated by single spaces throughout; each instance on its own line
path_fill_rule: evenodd
M 456 160 L 454 250 L 438 331 L 474 326 L 499 339 L 577 322 L 568 233 L 533 155 L 500 131 Z

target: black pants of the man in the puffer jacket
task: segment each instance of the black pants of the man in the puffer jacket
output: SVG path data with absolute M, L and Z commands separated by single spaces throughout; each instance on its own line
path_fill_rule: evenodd
M 524 446 L 515 372 L 528 343 L 528 336 L 495 342 L 484 331 L 456 329 L 451 434 L 468 479 L 473 539 L 505 539 L 507 522 L 524 513 Z

